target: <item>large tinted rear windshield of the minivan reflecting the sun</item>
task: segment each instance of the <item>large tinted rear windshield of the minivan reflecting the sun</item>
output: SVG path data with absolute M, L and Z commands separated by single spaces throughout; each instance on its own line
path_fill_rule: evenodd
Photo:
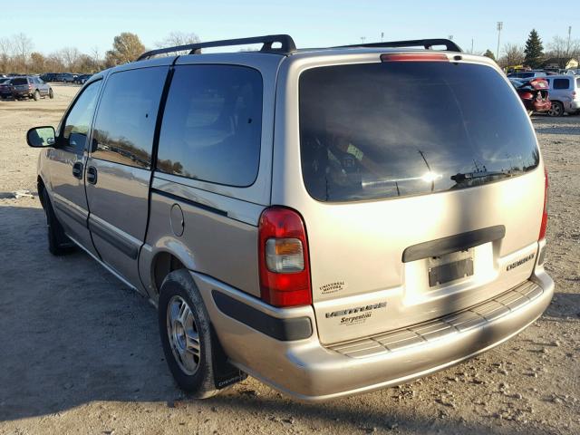
M 509 82 L 469 63 L 320 67 L 300 78 L 304 184 L 320 201 L 479 186 L 536 168 Z

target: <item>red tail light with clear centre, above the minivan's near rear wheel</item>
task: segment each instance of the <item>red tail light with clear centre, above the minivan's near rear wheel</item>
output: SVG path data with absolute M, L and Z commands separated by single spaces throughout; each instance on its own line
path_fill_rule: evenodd
M 258 228 L 260 294 L 267 304 L 312 304 L 306 228 L 290 208 L 266 208 Z

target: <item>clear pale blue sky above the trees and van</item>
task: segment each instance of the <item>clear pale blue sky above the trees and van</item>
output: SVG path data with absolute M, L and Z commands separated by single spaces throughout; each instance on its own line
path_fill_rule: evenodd
M 193 0 L 3 0 L 0 38 L 24 33 L 34 50 L 51 53 L 65 46 L 102 55 L 115 35 L 131 32 L 147 48 L 157 48 L 172 31 L 198 34 L 202 41 L 290 34 L 300 47 L 453 36 L 464 51 L 496 52 L 498 21 L 503 22 L 501 46 L 523 44 L 535 27 L 545 43 L 556 35 L 580 38 L 580 9 L 546 14 L 534 4 L 509 1 L 345 1 L 285 2 Z M 542 9 L 542 8 L 540 8 Z

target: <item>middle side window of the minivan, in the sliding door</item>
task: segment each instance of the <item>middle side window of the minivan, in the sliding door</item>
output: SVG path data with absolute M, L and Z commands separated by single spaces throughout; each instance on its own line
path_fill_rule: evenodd
M 153 133 L 167 67 L 114 73 L 102 92 L 92 157 L 150 169 Z

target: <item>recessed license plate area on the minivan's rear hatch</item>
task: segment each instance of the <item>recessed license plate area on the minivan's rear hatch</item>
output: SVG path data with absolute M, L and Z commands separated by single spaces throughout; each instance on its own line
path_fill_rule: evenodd
M 429 286 L 435 287 L 473 275 L 473 248 L 427 258 Z

